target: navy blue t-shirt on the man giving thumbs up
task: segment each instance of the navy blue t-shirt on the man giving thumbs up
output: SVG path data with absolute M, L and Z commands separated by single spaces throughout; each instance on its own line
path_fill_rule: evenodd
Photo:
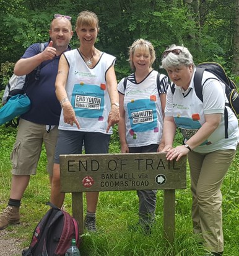
M 45 47 L 48 43 L 44 43 Z M 67 50 L 71 50 L 70 47 Z M 27 48 L 22 58 L 30 58 L 39 53 L 39 43 Z M 35 71 L 27 75 L 26 93 L 30 98 L 32 107 L 21 117 L 37 124 L 55 126 L 59 124 L 61 106 L 55 93 L 55 81 L 58 73 L 59 58 L 61 55 L 41 63 L 39 79 L 35 79 Z

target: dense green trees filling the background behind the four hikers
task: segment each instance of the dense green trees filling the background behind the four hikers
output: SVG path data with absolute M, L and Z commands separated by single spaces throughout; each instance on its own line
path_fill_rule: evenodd
M 139 38 L 154 44 L 156 70 L 159 69 L 161 53 L 173 43 L 188 47 L 195 63 L 220 60 L 228 70 L 231 68 L 232 0 L 217 4 L 208 1 L 201 25 L 196 22 L 197 14 L 185 5 L 185 1 L 9 0 L 1 1 L 1 7 L 1 63 L 15 63 L 30 44 L 48 40 L 54 13 L 72 16 L 74 30 L 77 14 L 88 9 L 95 12 L 100 20 L 97 47 L 117 58 L 115 70 L 118 80 L 129 75 L 128 47 Z M 76 33 L 71 45 L 73 48 L 79 46 Z

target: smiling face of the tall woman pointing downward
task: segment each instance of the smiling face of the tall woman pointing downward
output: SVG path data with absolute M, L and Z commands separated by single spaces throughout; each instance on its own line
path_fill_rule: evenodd
M 80 45 L 93 45 L 97 39 L 98 29 L 97 27 L 82 25 L 77 27 L 76 33 L 79 37 Z

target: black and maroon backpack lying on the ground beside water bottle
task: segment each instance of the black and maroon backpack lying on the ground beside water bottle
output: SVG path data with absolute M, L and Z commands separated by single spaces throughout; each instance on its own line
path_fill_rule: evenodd
M 69 213 L 48 202 L 51 209 L 43 216 L 33 231 L 28 249 L 23 256 L 64 256 L 71 246 L 71 239 L 76 239 L 79 247 L 79 224 Z

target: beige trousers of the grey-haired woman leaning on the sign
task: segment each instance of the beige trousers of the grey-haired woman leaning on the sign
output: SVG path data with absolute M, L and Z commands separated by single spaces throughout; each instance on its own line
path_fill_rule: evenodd
M 194 234 L 202 234 L 211 252 L 224 251 L 222 231 L 222 193 L 224 176 L 236 150 L 217 150 L 211 153 L 188 153 L 193 194 L 192 218 Z

